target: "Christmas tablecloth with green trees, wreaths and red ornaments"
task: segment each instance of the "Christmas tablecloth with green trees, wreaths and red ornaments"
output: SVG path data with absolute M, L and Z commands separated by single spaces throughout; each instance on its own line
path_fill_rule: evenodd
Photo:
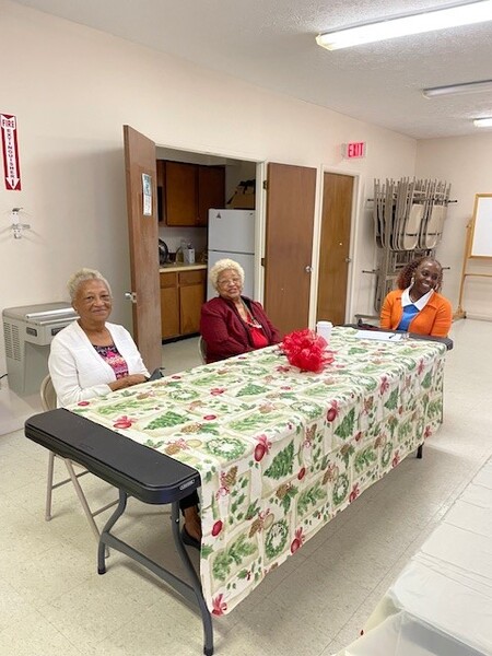
M 69 408 L 200 472 L 216 616 L 441 424 L 445 345 L 336 328 L 330 349 L 320 374 L 270 347 Z

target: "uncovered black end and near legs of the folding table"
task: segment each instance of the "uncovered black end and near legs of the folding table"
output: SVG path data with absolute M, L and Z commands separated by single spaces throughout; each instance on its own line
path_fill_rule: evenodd
M 35 414 L 25 422 L 25 435 L 62 458 L 83 465 L 119 490 L 119 503 L 99 538 L 97 572 L 106 572 L 106 546 L 136 560 L 186 599 L 198 605 L 203 623 L 203 653 L 213 654 L 212 618 L 199 576 L 183 544 L 179 531 L 179 500 L 200 487 L 200 475 L 188 465 L 60 408 Z M 174 542 L 190 584 L 124 542 L 110 531 L 127 506 L 128 496 L 143 503 L 171 504 Z

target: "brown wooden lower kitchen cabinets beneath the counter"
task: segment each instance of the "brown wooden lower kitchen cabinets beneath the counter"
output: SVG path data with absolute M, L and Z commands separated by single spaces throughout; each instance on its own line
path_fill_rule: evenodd
M 162 339 L 200 331 L 201 306 L 206 300 L 206 269 L 161 272 Z

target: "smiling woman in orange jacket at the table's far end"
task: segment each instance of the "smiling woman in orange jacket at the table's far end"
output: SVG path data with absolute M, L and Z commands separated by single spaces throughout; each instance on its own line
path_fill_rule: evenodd
M 437 260 L 422 257 L 409 262 L 397 279 L 398 289 L 389 292 L 383 303 L 380 327 L 447 337 L 453 309 L 438 293 L 442 282 L 443 268 Z

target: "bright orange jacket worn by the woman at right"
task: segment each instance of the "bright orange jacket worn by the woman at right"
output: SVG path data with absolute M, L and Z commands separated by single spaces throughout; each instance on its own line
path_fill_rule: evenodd
M 395 290 L 386 296 L 380 311 L 380 327 L 396 330 L 403 316 L 401 295 L 403 290 Z M 418 315 L 410 321 L 409 332 L 447 337 L 453 320 L 453 309 L 447 298 L 434 292 Z

